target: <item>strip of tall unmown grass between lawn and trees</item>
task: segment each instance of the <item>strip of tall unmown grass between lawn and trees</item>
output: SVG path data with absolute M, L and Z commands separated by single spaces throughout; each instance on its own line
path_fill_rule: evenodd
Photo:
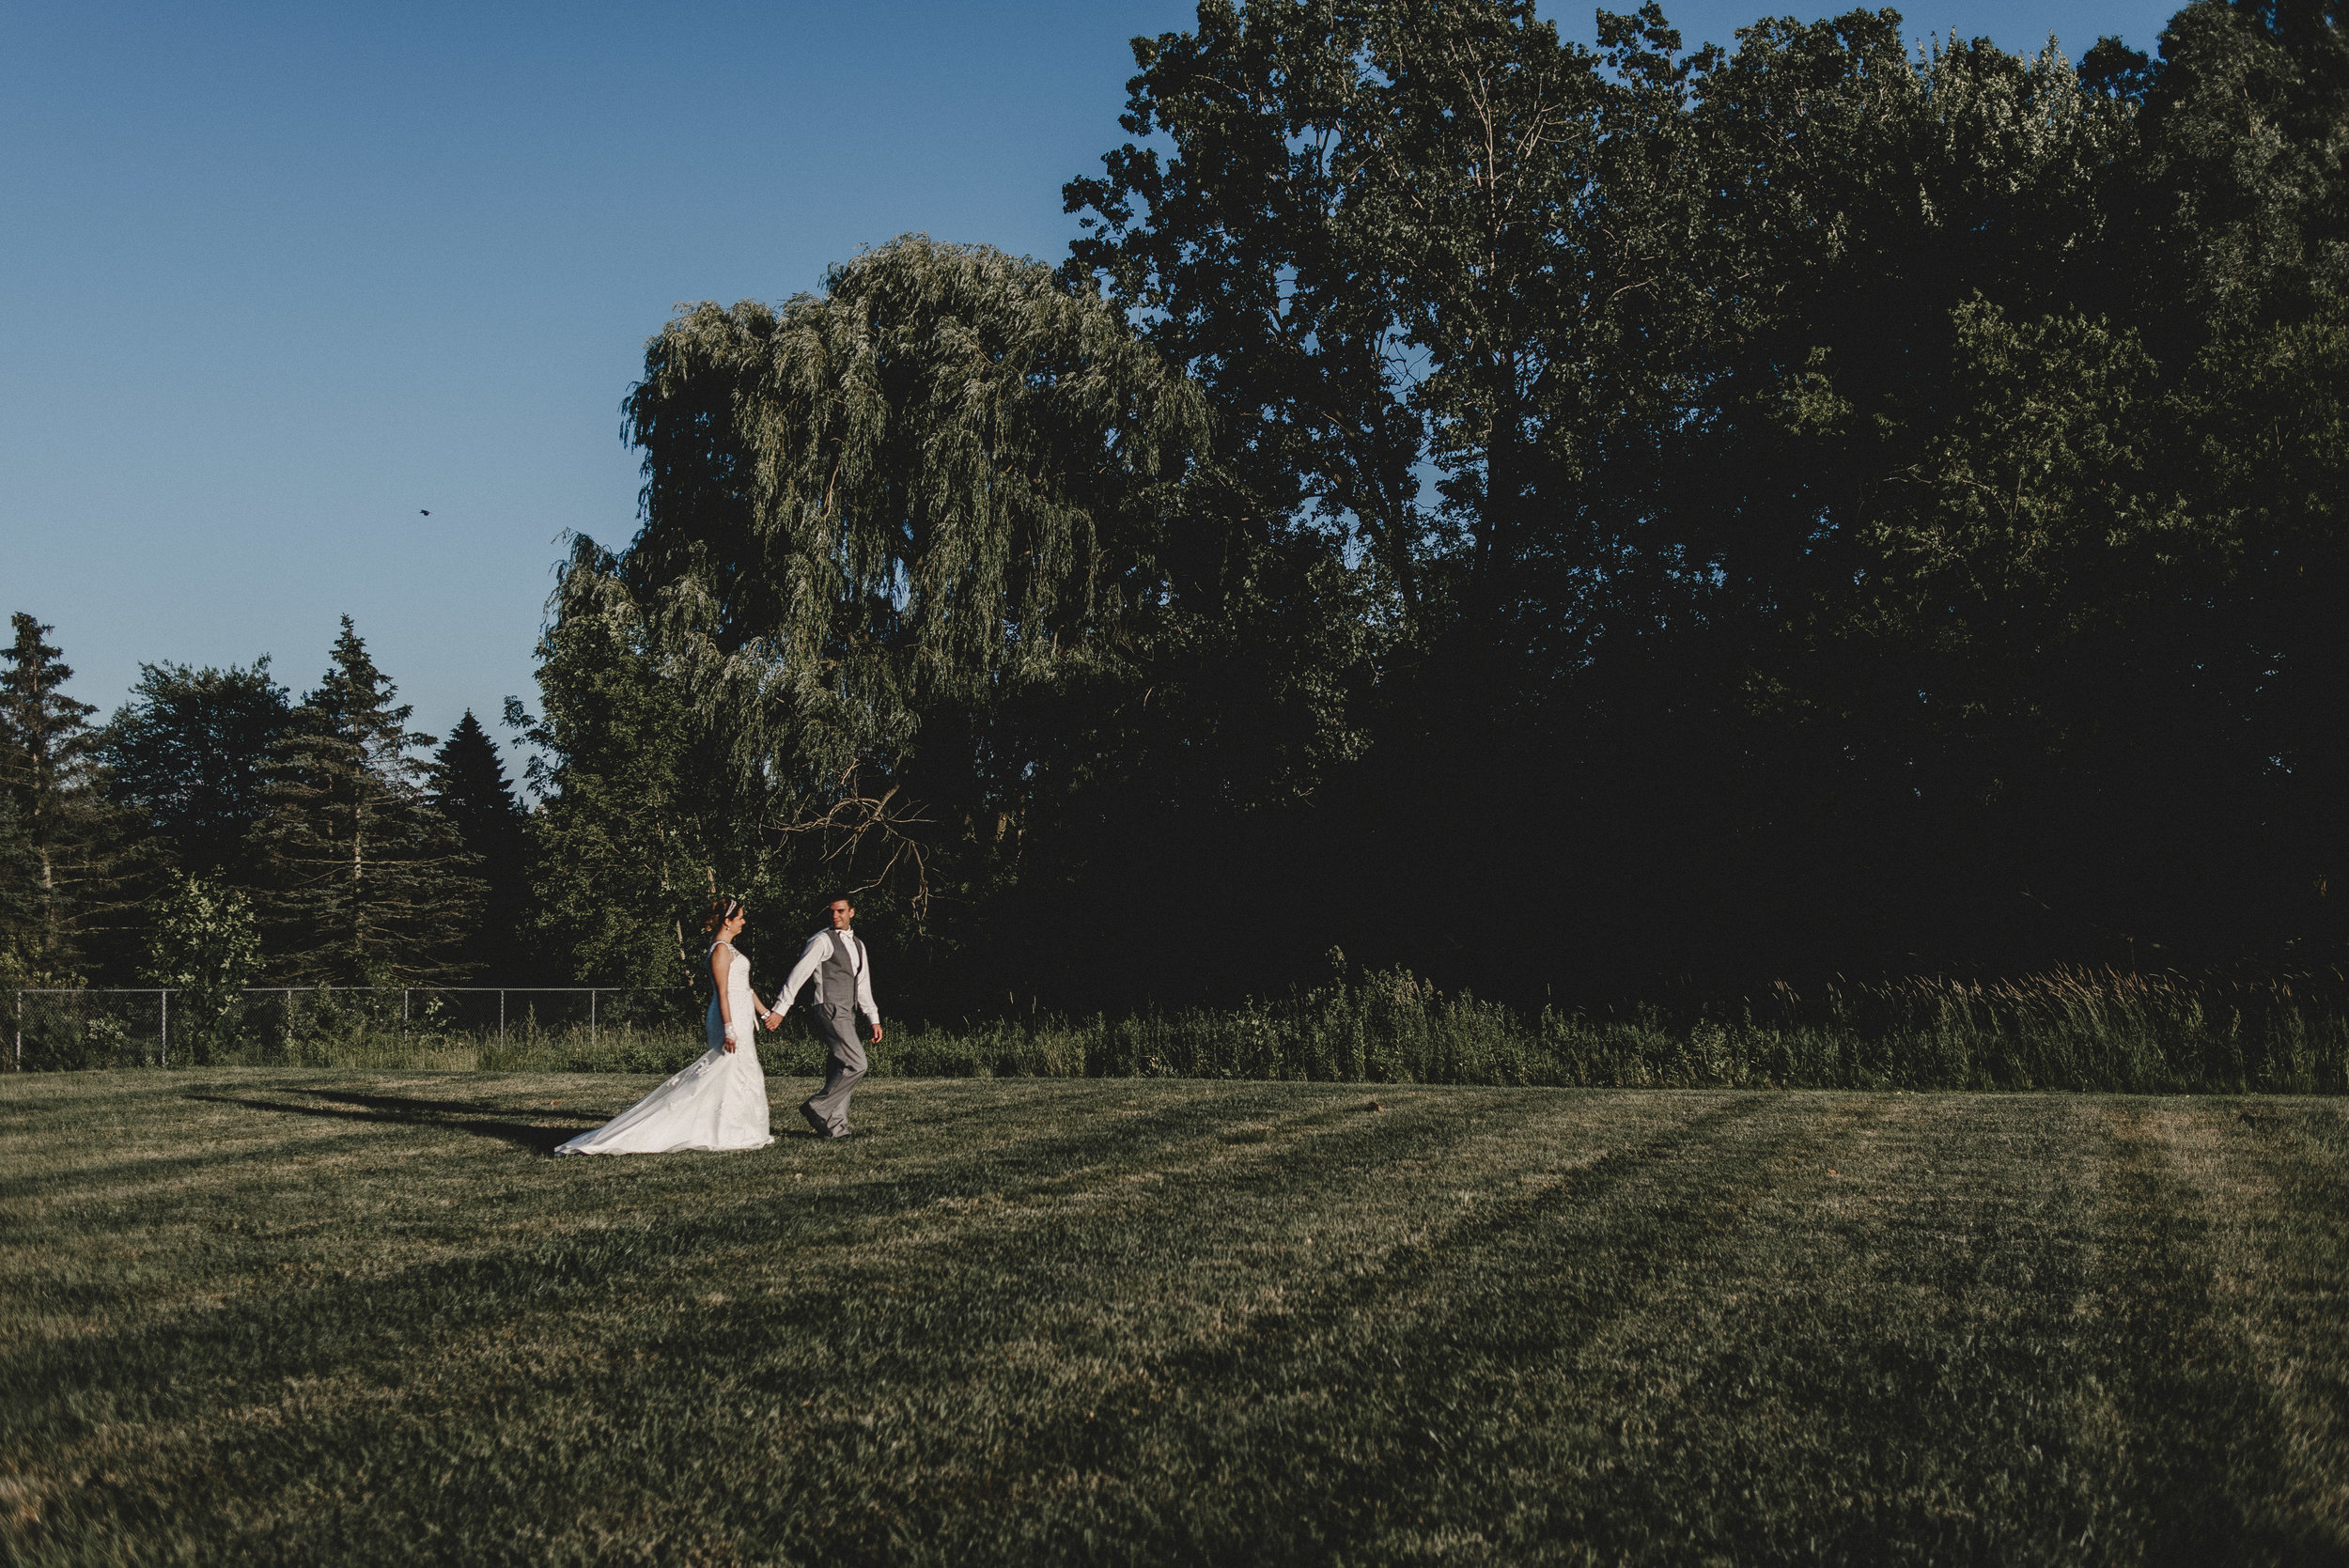
M 778 1075 L 822 1066 L 822 1047 L 796 1019 L 761 1035 L 759 1049 Z M 327 1009 L 303 1030 L 249 1040 L 216 1061 L 669 1073 L 700 1052 L 700 1030 L 679 1023 L 529 1028 L 498 1040 Z M 1997 981 L 1773 986 L 1736 1005 L 1680 1012 L 1525 1014 L 1393 969 L 1236 1009 L 911 1028 L 890 1033 L 871 1059 L 883 1077 L 2344 1094 L 2349 1007 L 2340 976 L 2051 969 Z

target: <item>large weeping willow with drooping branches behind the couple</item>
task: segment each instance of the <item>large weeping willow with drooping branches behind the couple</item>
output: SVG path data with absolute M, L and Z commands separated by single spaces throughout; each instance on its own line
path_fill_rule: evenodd
M 911 869 L 926 899 L 937 836 L 968 836 L 989 777 L 1022 770 L 991 716 L 1113 671 L 1165 599 L 1207 434 L 1196 387 L 1097 293 L 921 235 L 780 310 L 679 312 L 625 415 L 644 526 L 615 556 L 580 540 L 557 594 L 543 838 L 566 854 L 559 803 L 587 793 L 585 730 L 613 711 L 571 704 L 566 735 L 566 681 L 634 660 L 627 690 L 681 758 L 667 819 L 644 826 L 674 847 L 648 890 L 672 906 L 770 885 L 794 845 L 834 864 L 801 859 L 785 885 L 841 880 L 848 859 L 860 883 Z

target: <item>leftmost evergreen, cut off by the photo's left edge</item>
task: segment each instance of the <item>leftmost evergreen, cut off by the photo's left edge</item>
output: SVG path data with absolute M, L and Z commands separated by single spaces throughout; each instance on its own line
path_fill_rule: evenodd
M 92 958 L 85 937 L 106 911 L 110 833 L 99 793 L 96 711 L 63 692 L 73 669 L 42 641 L 52 627 L 23 610 L 16 638 L 0 653 L 0 793 L 7 796 L 9 845 L 0 876 L 12 887 L 0 904 L 16 911 L 7 969 L 63 979 Z

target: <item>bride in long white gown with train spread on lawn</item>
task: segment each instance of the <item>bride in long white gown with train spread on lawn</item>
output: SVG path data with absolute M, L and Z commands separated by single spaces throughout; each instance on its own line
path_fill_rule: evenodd
M 709 1052 L 684 1073 L 594 1131 L 564 1143 L 557 1155 L 667 1155 L 681 1148 L 766 1148 L 766 1073 L 752 1042 L 752 1019 L 775 1028 L 782 1014 L 759 1007 L 749 993 L 749 960 L 733 939 L 747 925 L 742 899 L 716 899 L 705 930 L 709 944 Z

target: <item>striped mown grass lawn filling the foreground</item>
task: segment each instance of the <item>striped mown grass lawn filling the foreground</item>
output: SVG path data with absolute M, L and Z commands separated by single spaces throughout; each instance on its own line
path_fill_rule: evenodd
M 0 1559 L 2349 1561 L 2342 1101 L 651 1082 L 0 1080 Z

